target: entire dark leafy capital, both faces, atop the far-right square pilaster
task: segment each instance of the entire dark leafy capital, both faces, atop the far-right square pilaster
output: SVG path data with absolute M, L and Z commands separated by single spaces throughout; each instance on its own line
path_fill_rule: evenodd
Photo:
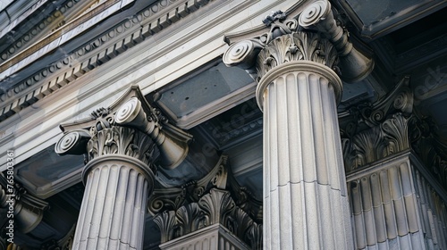
M 374 104 L 353 105 L 339 114 L 346 172 L 392 154 L 414 151 L 433 176 L 447 185 L 447 145 L 434 132 L 434 122 L 413 113 L 409 77 Z

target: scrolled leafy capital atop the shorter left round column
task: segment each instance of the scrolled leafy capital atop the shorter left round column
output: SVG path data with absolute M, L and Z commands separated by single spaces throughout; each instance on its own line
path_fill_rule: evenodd
M 179 165 L 191 139 L 148 104 L 137 86 L 107 109 L 92 112 L 91 118 L 60 127 L 65 132 L 55 145 L 57 154 L 84 154 L 86 163 L 106 154 L 128 155 L 148 164 L 152 171 L 156 165 Z

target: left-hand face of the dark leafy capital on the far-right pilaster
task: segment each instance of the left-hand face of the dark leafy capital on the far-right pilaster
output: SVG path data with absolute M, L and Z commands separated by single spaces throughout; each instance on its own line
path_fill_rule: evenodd
M 409 150 L 417 117 L 412 115 L 413 93 L 404 77 L 388 96 L 374 104 L 353 105 L 339 114 L 347 172 L 386 156 Z

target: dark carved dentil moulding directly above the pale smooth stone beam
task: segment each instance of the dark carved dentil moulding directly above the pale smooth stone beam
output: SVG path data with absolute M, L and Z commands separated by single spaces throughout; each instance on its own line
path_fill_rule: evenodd
M 98 65 L 110 61 L 145 38 L 153 36 L 208 3 L 207 1 L 196 3 L 193 0 L 181 1 L 178 4 L 173 4 L 174 2 L 159 1 L 148 6 L 145 10 L 122 21 L 113 29 L 105 31 L 101 36 L 73 51 L 72 54 L 68 54 L 62 60 L 25 79 L 18 87 L 10 89 L 6 94 L 0 96 L 0 100 L 4 101 L 0 110 L 0 121 L 19 112 L 24 107 L 36 103 L 44 96 L 71 83 Z M 51 75 L 55 75 L 56 71 L 60 74 L 51 77 Z M 25 92 L 23 91 L 25 89 L 30 90 Z M 20 94 L 16 94 L 16 92 Z

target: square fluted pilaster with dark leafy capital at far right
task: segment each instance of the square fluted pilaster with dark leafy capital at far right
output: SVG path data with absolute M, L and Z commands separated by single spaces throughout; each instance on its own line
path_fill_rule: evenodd
M 436 153 L 445 147 L 436 146 L 429 122 L 412 107 L 409 77 L 404 77 L 384 99 L 341 114 L 357 249 L 447 244 L 443 156 Z

